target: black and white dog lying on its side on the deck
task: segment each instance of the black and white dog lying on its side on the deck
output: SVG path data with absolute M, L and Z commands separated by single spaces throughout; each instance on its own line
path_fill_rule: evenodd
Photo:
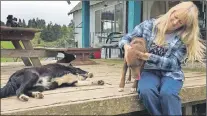
M 85 80 L 91 77 L 93 77 L 92 73 L 61 63 L 24 68 L 11 75 L 7 84 L 1 88 L 0 97 L 16 94 L 21 101 L 28 101 L 29 97 L 42 99 L 44 96 L 41 92 L 58 87 L 104 84 L 102 80 L 94 82 Z M 85 81 L 80 81 L 80 78 Z

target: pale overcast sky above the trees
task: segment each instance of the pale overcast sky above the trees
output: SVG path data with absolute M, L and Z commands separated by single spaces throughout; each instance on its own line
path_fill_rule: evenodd
M 68 25 L 73 18 L 68 16 L 80 1 L 71 1 L 69 5 L 66 1 L 1 1 L 1 21 L 6 23 L 6 17 L 11 14 L 17 19 L 24 19 L 28 23 L 29 19 L 44 19 L 46 23 L 50 21 L 59 25 Z

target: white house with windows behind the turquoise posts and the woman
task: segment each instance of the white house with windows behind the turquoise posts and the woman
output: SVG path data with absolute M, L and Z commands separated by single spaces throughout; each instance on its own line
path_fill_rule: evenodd
M 128 20 L 132 15 L 138 15 L 140 19 L 137 23 L 145 19 L 155 18 L 168 11 L 169 8 L 179 3 L 179 1 L 137 1 L 138 10 L 129 11 L 131 1 L 90 1 L 90 47 L 101 47 L 106 42 L 106 36 L 111 32 L 126 33 L 129 30 Z M 77 47 L 82 46 L 82 3 L 79 2 L 68 15 L 73 15 L 75 23 L 75 41 Z M 195 1 L 200 11 L 200 24 L 202 28 L 206 27 L 204 2 Z M 135 4 L 136 5 L 136 4 Z M 132 6 L 133 7 L 133 6 Z M 136 9 L 136 8 L 135 8 Z M 136 11 L 136 12 L 135 12 Z M 138 13 L 140 11 L 140 13 Z M 137 20 L 139 20 L 137 19 Z M 136 20 L 135 20 L 136 21 Z M 134 26 L 134 25 L 132 25 Z M 133 27 L 132 27 L 133 28 Z M 117 52 L 116 52 L 117 51 Z M 113 51 L 112 51 L 113 52 Z M 118 50 L 114 50 L 113 55 L 117 57 Z

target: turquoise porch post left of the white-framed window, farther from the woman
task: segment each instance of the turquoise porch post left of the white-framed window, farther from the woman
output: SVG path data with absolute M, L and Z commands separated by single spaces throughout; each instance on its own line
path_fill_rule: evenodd
M 89 47 L 90 38 L 90 2 L 82 1 L 82 48 Z

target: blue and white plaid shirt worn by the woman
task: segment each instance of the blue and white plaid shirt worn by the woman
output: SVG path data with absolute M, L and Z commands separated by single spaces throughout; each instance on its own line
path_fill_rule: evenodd
M 156 34 L 152 32 L 154 21 L 155 19 L 145 20 L 137 25 L 131 33 L 121 38 L 119 47 L 123 49 L 123 46 L 129 44 L 132 38 L 142 37 L 145 39 L 149 51 Z M 161 71 L 162 76 L 168 76 L 183 81 L 184 74 L 181 70 L 181 62 L 185 59 L 186 53 L 186 45 L 180 40 L 178 35 L 175 35 L 164 56 L 151 54 L 144 65 L 144 70 L 158 70 Z

